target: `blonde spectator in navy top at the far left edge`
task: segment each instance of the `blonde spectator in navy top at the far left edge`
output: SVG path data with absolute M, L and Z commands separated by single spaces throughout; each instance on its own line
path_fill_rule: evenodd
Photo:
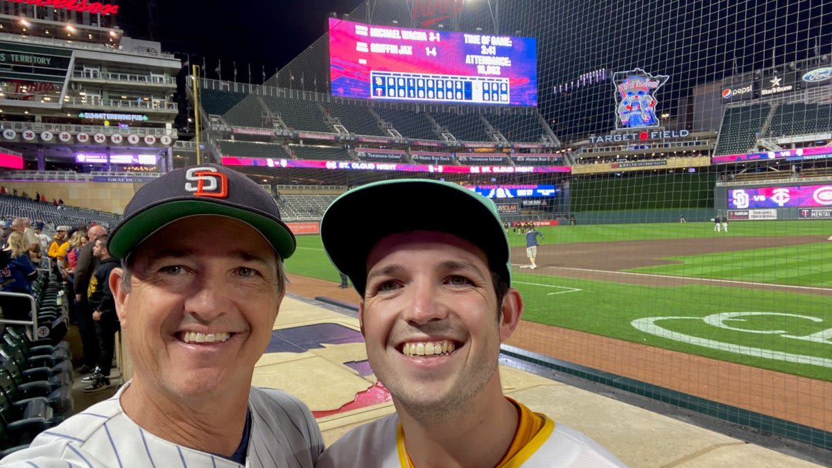
M 19 231 L 8 236 L 10 261 L 8 266 L 0 270 L 2 291 L 32 294 L 32 281 L 37 277 L 37 270 L 29 259 L 29 249 L 26 236 Z M 3 318 L 11 320 L 27 320 L 32 303 L 24 297 L 3 297 L 0 301 Z

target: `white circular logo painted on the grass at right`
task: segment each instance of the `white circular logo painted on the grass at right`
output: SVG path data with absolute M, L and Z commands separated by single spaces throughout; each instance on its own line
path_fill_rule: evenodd
M 662 338 L 667 338 L 673 341 L 680 341 L 682 343 L 687 343 L 689 345 L 696 345 L 696 346 L 703 346 L 706 348 L 711 348 L 713 350 L 718 351 L 727 351 L 732 352 L 735 354 L 741 354 L 744 356 L 753 356 L 753 357 L 761 357 L 764 359 L 774 359 L 776 361 L 785 361 L 785 362 L 794 362 L 795 364 L 810 364 L 812 366 L 823 366 L 823 367 L 830 367 L 832 368 L 832 359 L 827 359 L 825 357 L 817 357 L 817 356 L 805 356 L 800 354 L 792 354 L 784 351 L 773 351 L 773 350 L 766 350 L 762 348 L 755 348 L 753 346 L 741 346 L 735 343 L 725 343 L 722 341 L 716 340 L 709 340 L 707 338 L 701 338 L 699 336 L 690 336 L 685 335 L 684 333 L 679 333 L 678 331 L 671 331 L 667 330 L 666 328 L 662 328 L 661 326 L 656 325 L 657 321 L 666 321 L 666 320 L 696 320 L 696 321 L 704 321 L 706 325 L 716 326 L 718 328 L 722 328 L 724 330 L 730 331 L 741 331 L 744 333 L 752 333 L 752 334 L 760 334 L 760 335 L 779 335 L 783 338 L 792 339 L 792 340 L 801 340 L 801 341 L 811 341 L 813 343 L 823 343 L 827 345 L 832 345 L 832 328 L 818 331 L 816 333 L 812 333 L 810 335 L 790 335 L 788 331 L 785 330 L 748 330 L 745 328 L 737 328 L 735 326 L 730 326 L 729 321 L 741 321 L 747 322 L 747 317 L 754 317 L 754 316 L 783 316 L 783 317 L 792 317 L 792 318 L 799 318 L 801 320 L 808 320 L 815 323 L 823 321 L 823 319 L 813 316 L 801 316 L 798 314 L 782 314 L 778 312 L 756 312 L 756 311 L 748 311 L 748 312 L 722 312 L 718 314 L 712 314 L 710 316 L 705 317 L 696 317 L 696 316 L 659 316 L 659 317 L 645 317 L 636 319 L 631 321 L 631 325 L 636 327 L 636 329 L 640 331 L 644 331 L 645 333 L 649 333 L 654 336 L 661 336 Z M 828 351 L 824 351 L 825 353 Z

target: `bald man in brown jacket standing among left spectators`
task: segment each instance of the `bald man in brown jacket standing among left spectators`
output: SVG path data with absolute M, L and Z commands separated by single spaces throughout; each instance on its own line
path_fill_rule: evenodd
M 78 261 L 73 275 L 72 289 L 75 291 L 76 319 L 83 352 L 81 366 L 78 368 L 81 374 L 92 372 L 98 363 L 98 338 L 95 322 L 92 320 L 92 309 L 87 301 L 87 290 L 90 286 L 90 277 L 98 267 L 98 259 L 92 255 L 92 247 L 95 246 L 99 237 L 105 235 L 104 227 L 100 225 L 90 227 L 87 231 L 89 241 L 78 251 Z

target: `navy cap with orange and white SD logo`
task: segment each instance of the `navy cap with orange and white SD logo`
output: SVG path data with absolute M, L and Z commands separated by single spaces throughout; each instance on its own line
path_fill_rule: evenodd
M 203 164 L 176 169 L 141 187 L 110 233 L 110 253 L 126 258 L 162 227 L 199 215 L 247 223 L 269 241 L 281 259 L 295 252 L 295 235 L 280 220 L 280 209 L 268 192 L 240 172 Z

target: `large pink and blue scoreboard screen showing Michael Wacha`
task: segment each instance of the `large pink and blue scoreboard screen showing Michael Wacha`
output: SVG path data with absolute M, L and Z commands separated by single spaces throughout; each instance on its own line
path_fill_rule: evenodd
M 329 18 L 332 94 L 537 106 L 537 40 Z

